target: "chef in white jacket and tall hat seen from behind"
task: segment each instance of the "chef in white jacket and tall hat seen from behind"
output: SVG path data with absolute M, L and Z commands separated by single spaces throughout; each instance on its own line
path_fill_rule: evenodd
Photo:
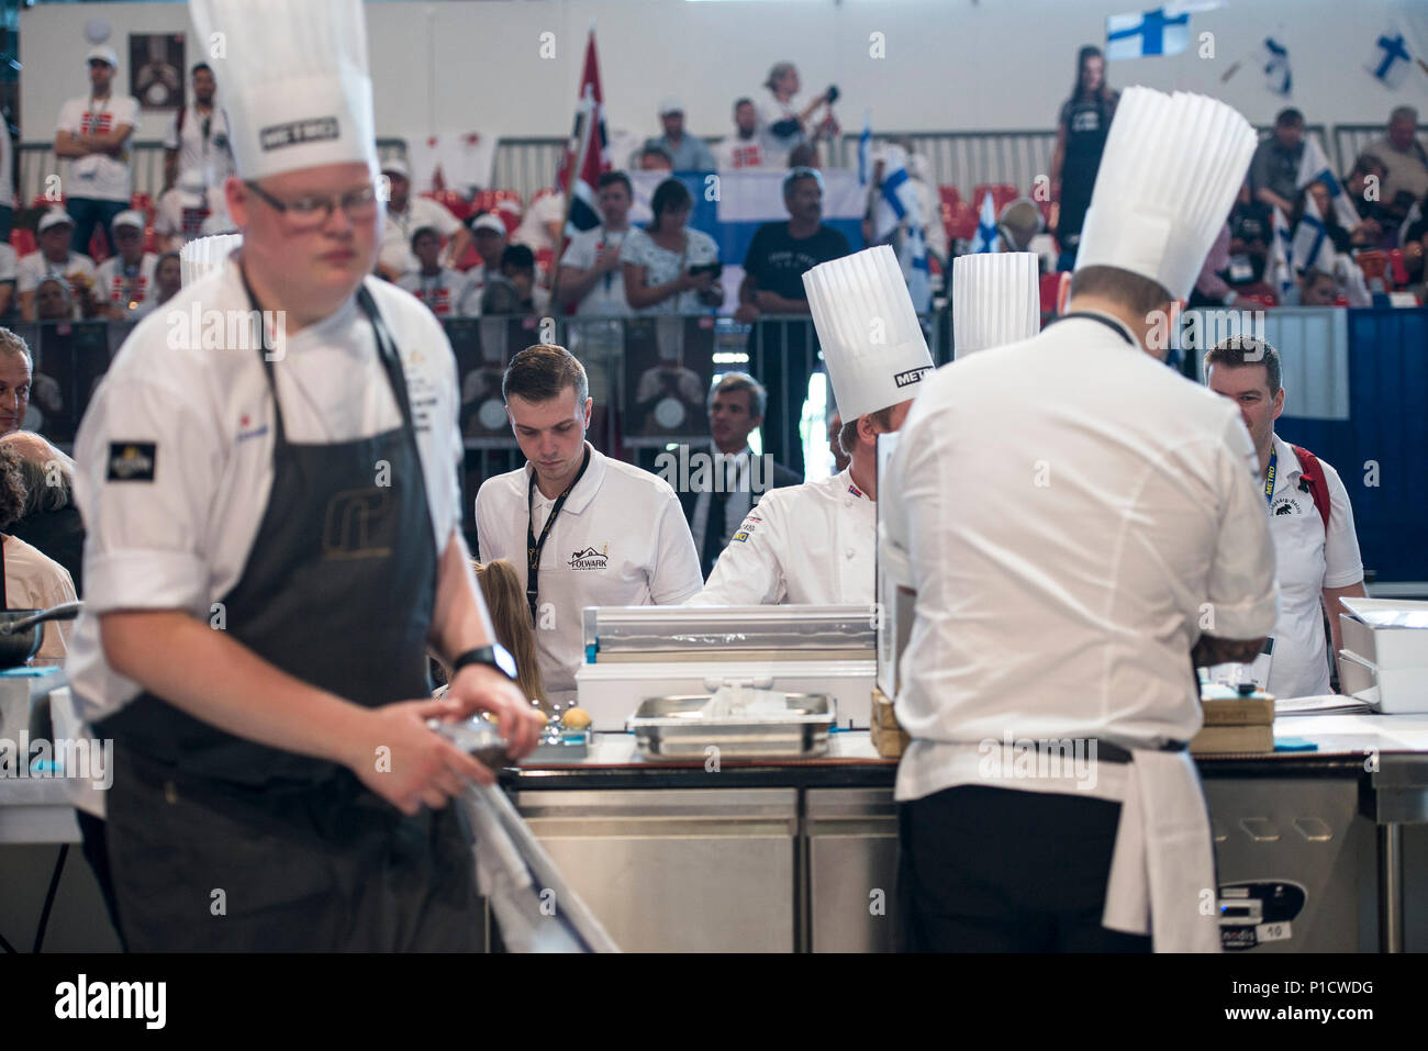
M 1192 664 L 1258 651 L 1274 548 L 1238 413 L 1161 363 L 1157 327 L 1254 146 L 1221 103 L 1128 89 L 1070 311 L 948 366 L 908 414 L 883 480 L 917 591 L 895 701 L 908 948 L 1220 945 Z

